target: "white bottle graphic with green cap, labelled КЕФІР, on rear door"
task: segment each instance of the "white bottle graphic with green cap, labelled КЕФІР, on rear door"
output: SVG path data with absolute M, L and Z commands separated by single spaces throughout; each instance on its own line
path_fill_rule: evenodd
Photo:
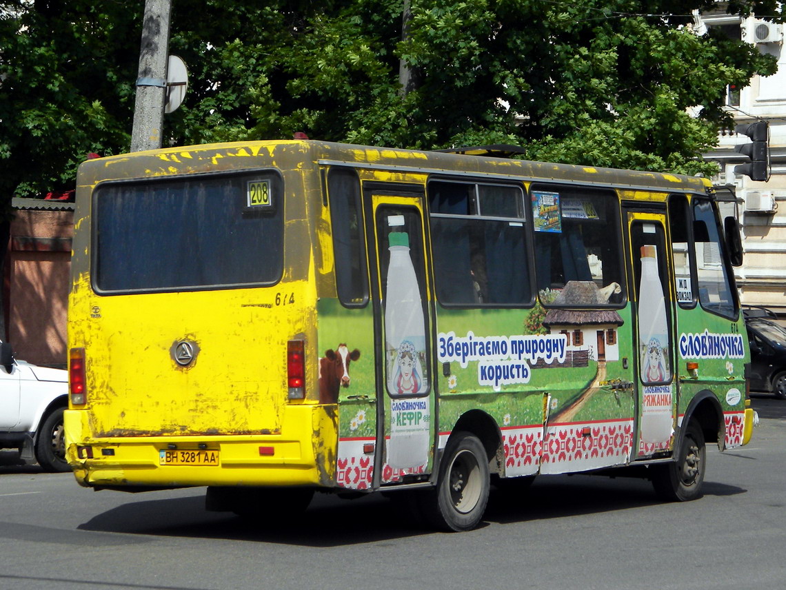
M 391 438 L 387 464 L 398 469 L 428 463 L 428 376 L 425 359 L 425 323 L 421 291 L 410 257 L 410 236 L 389 235 L 385 302 L 385 352 L 387 393 L 391 400 Z M 421 397 L 415 397 L 421 394 Z

